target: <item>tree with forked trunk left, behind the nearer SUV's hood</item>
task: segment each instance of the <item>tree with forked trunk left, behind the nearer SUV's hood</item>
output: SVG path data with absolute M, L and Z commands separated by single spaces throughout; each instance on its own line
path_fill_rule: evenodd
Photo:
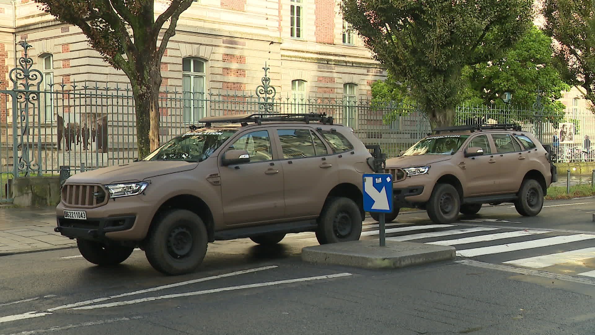
M 193 0 L 170 0 L 170 6 L 157 18 L 154 0 L 35 1 L 46 13 L 82 29 L 92 48 L 126 74 L 136 104 L 139 155 L 155 150 L 159 145 L 161 58 L 171 36 L 176 35 L 180 14 Z

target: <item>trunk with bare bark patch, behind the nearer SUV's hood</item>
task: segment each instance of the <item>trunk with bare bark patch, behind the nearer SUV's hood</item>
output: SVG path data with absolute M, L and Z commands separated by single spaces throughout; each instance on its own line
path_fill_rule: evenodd
M 139 78 L 142 79 L 142 78 Z M 136 138 L 139 159 L 159 147 L 159 80 L 148 78 L 133 83 L 134 103 L 136 104 Z

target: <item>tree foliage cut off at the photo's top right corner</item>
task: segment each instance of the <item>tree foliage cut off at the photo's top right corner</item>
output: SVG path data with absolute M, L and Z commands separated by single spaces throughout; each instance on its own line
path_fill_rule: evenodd
M 543 31 L 555 39 L 554 65 L 595 111 L 595 2 L 543 0 Z

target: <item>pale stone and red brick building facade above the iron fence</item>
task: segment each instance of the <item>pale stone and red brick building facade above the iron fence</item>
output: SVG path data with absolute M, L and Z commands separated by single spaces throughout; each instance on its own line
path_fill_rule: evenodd
M 165 8 L 165 1 L 156 1 L 156 15 Z M 253 91 L 266 62 L 277 97 L 359 100 L 386 72 L 346 28 L 334 0 L 197 0 L 170 39 L 162 85 L 197 93 Z M 8 71 L 21 55 L 15 43 L 23 39 L 33 46 L 33 67 L 45 84 L 128 82 L 78 27 L 60 23 L 32 0 L 0 0 L 0 88 L 10 83 Z

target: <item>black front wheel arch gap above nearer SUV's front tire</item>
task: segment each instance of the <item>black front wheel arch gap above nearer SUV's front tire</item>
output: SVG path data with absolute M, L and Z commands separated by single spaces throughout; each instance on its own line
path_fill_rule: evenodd
M 168 200 L 165 200 L 164 203 L 162 203 L 161 206 L 159 206 L 159 208 L 156 210 L 155 215 L 153 215 L 153 218 L 151 219 L 151 225 L 149 225 L 147 237 L 151 233 L 151 229 L 154 227 L 156 219 L 159 217 L 159 215 L 170 209 L 186 209 L 200 216 L 206 226 L 208 241 L 212 242 L 214 240 L 215 220 L 213 218 L 211 209 L 204 200 L 197 196 L 193 196 L 192 194 L 179 194 L 169 198 Z

